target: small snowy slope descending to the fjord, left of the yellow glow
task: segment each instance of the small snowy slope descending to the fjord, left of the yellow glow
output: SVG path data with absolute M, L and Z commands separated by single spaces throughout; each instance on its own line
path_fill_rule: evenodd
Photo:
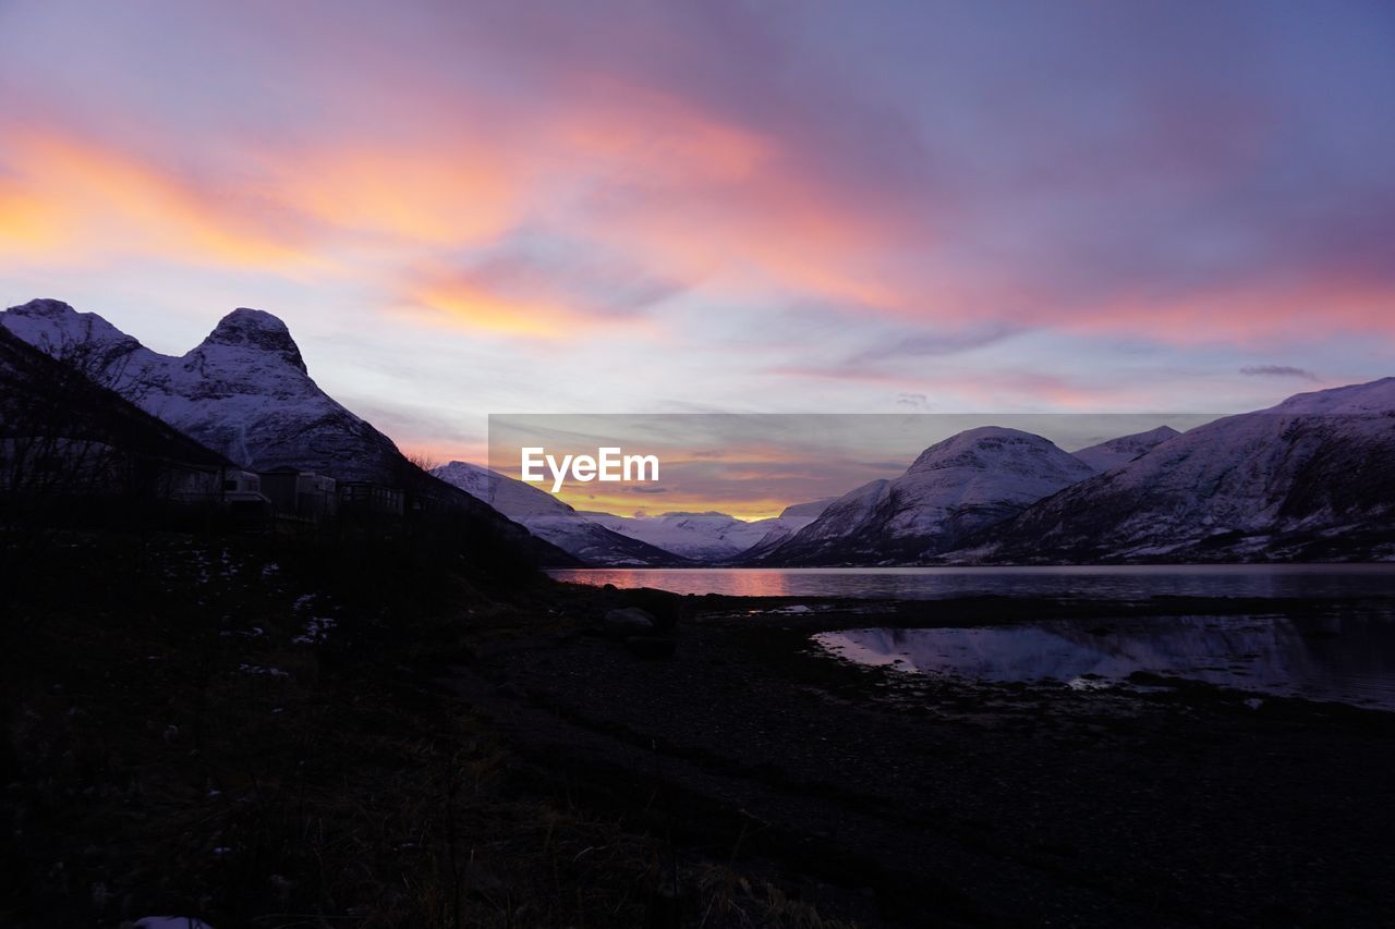
M 684 561 L 670 551 L 593 522 L 547 491 L 478 464 L 451 462 L 431 473 L 522 523 L 534 536 L 575 555 L 586 565 L 651 566 Z

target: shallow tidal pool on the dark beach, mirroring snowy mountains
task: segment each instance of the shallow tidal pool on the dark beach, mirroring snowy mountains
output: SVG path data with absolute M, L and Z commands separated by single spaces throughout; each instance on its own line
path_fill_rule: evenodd
M 1395 709 L 1395 617 L 1163 617 L 971 629 L 854 629 L 815 640 L 866 665 L 981 681 L 1134 671 Z

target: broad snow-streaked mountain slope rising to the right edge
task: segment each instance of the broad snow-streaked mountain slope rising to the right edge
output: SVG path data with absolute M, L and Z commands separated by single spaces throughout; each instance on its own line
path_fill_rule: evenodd
M 968 559 L 1395 558 L 1395 378 L 1207 423 L 979 541 Z

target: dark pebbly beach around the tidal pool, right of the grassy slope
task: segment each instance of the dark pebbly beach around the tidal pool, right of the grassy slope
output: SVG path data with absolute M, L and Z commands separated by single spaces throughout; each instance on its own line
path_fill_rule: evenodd
M 585 632 L 498 643 L 456 686 L 540 776 L 600 809 L 642 805 L 709 855 L 764 858 L 799 875 L 820 912 L 869 925 L 1395 919 L 1391 714 L 1256 707 L 1180 681 L 971 686 L 808 646 L 815 630 L 865 625 L 1314 604 L 780 605 L 691 600 L 667 663 Z

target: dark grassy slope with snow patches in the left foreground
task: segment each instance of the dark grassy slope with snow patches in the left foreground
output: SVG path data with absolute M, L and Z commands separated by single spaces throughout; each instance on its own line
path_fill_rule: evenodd
M 544 589 L 374 541 L 74 531 L 3 564 L 0 923 L 831 925 L 536 792 L 430 683 L 555 622 Z

